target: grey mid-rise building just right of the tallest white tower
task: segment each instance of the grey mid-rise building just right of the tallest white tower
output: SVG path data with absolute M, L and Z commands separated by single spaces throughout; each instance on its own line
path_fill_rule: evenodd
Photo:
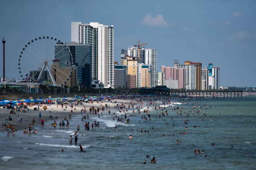
M 127 69 L 124 65 L 115 65 L 115 88 L 127 87 Z

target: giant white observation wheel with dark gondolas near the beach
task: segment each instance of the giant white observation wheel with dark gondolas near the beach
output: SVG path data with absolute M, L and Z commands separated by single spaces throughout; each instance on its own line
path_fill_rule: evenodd
M 63 86 L 71 77 L 73 57 L 65 43 L 54 37 L 42 36 L 23 47 L 18 65 L 23 80 Z

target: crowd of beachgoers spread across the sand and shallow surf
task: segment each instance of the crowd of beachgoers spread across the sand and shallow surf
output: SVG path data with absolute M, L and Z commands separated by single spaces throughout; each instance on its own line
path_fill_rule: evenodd
M 116 100 L 115 100 L 116 99 Z M 86 121 L 84 126 L 85 126 L 85 130 L 90 130 L 93 129 L 94 127 L 99 127 L 100 126 L 100 123 L 99 121 L 94 121 L 92 124 L 90 124 L 89 122 L 89 115 L 91 114 L 94 114 L 94 115 L 97 115 L 98 118 L 100 118 L 100 116 L 102 114 L 108 114 L 110 115 L 111 113 L 113 114 L 113 121 L 116 121 L 116 122 L 120 122 L 120 123 L 130 123 L 130 119 L 128 118 L 127 119 L 127 114 L 143 114 L 141 115 L 141 119 L 146 122 L 147 120 L 149 121 L 153 121 L 152 120 L 152 115 L 150 115 L 150 111 L 157 111 L 157 114 L 154 114 L 153 117 L 155 117 L 156 119 L 159 118 L 159 119 L 162 119 L 163 121 L 166 121 L 168 115 L 169 115 L 169 119 L 170 120 L 173 120 L 173 124 L 172 126 L 182 126 L 182 125 L 175 125 L 174 123 L 174 119 L 173 118 L 176 114 L 177 117 L 182 117 L 182 116 L 185 116 L 186 119 L 184 120 L 184 124 L 185 124 L 185 129 L 188 129 L 187 127 L 187 124 L 189 122 L 189 117 L 190 117 L 190 114 L 192 115 L 197 115 L 197 118 L 201 119 L 201 120 L 204 120 L 205 118 L 207 118 L 207 115 L 206 115 L 206 112 L 203 113 L 202 115 L 201 112 L 203 112 L 203 109 L 204 110 L 208 110 L 208 109 L 211 109 L 211 107 L 208 107 L 208 105 L 206 103 L 202 103 L 202 100 L 201 99 L 184 99 L 184 98 L 175 98 L 177 101 L 180 102 L 180 104 L 182 105 L 179 105 L 179 106 L 176 106 L 175 102 L 172 101 L 174 98 L 170 98 L 170 97 L 160 97 L 160 96 L 140 96 L 140 95 L 137 95 L 137 96 L 130 96 L 130 97 L 116 97 L 115 99 L 113 98 L 107 98 L 107 99 L 101 99 L 101 100 L 73 100 L 72 102 L 68 102 L 68 101 L 63 101 L 61 103 L 59 103 L 58 101 L 55 102 L 53 100 L 51 101 L 47 101 L 47 102 L 42 102 L 42 103 L 39 103 L 39 102 L 34 102 L 34 103 L 30 103 L 29 105 L 24 105 L 24 106 L 19 106 L 17 105 L 16 107 L 10 107 L 11 104 L 7 104 L 6 106 L 4 106 L 3 108 L 9 108 L 11 109 L 10 111 L 10 114 L 16 114 L 16 112 L 20 111 L 21 109 L 25 110 L 27 109 L 27 111 L 30 111 L 30 107 L 35 107 L 36 111 L 41 111 L 40 107 L 43 108 L 42 111 L 46 111 L 47 110 L 47 106 L 56 106 L 57 108 L 58 107 L 61 107 L 61 109 L 63 109 L 63 111 L 66 111 L 66 110 L 70 110 L 70 112 L 73 112 L 73 110 L 77 110 L 76 107 L 74 106 L 81 106 L 82 109 L 80 111 L 81 113 L 81 116 L 82 116 L 82 122 L 83 121 Z M 117 101 L 119 100 L 120 101 Z M 126 102 L 124 102 L 126 101 Z M 129 102 L 128 102 L 129 101 Z M 106 102 L 106 104 L 104 103 Z M 119 104 L 117 103 L 119 102 Z M 90 103 L 91 104 L 91 107 L 89 107 L 89 110 L 87 109 L 86 110 L 86 107 L 84 105 L 84 103 Z M 95 107 L 96 105 L 93 105 L 93 103 L 97 104 L 97 107 Z M 110 103 L 111 103 L 111 107 L 110 108 Z M 144 107 L 143 107 L 144 105 Z M 188 108 L 190 108 L 190 111 L 183 111 L 183 107 L 182 106 L 188 106 Z M 142 110 L 143 109 L 143 110 Z M 169 111 L 168 111 L 169 109 Z M 116 111 L 117 113 L 122 113 L 124 114 L 124 118 L 123 117 L 119 117 L 117 114 L 116 114 Z M 26 110 L 25 110 L 26 111 Z M 129 112 L 130 111 L 130 112 Z M 159 113 L 158 113 L 159 112 Z M 170 116 L 170 112 L 172 113 L 172 116 Z M 49 113 L 51 113 L 51 111 L 49 111 Z M 41 124 L 41 126 L 44 126 L 44 119 L 41 118 L 42 117 L 42 114 L 41 112 L 39 112 L 39 123 Z M 11 117 L 9 117 L 11 118 Z M 49 118 L 54 118 L 52 117 L 52 115 L 49 117 Z M 58 117 L 55 117 L 56 119 Z M 71 113 L 69 114 L 69 119 L 67 119 L 66 117 L 64 117 L 64 120 L 62 121 L 59 121 L 59 128 L 62 129 L 62 128 L 69 128 L 69 121 L 72 121 L 72 115 Z M 210 117 L 211 119 L 214 119 L 214 117 Z M 125 121 L 126 120 L 126 121 Z M 139 120 L 140 122 L 140 120 Z M 18 116 L 18 121 L 17 123 L 22 123 L 22 118 L 20 116 Z M 34 129 L 32 126 L 35 125 L 35 117 L 33 117 L 32 119 L 32 123 L 29 124 L 29 128 L 26 129 L 24 128 L 23 132 L 24 133 L 32 133 L 32 134 L 37 134 L 38 131 L 35 129 L 35 130 L 32 130 Z M 165 125 L 169 125 L 169 123 L 165 123 Z M 53 127 L 53 129 L 56 129 L 57 127 L 57 122 L 56 120 L 54 120 L 54 122 L 51 124 L 51 126 Z M 114 127 L 114 130 L 115 132 L 119 132 L 119 130 L 117 129 L 117 124 L 115 125 Z M 193 128 L 197 128 L 197 126 L 193 126 Z M 205 126 L 205 128 L 207 128 L 207 126 Z M 152 127 L 153 129 L 153 127 Z M 16 130 L 16 127 L 15 127 L 15 124 L 10 124 L 8 123 L 6 125 L 6 130 L 7 130 L 7 135 L 9 135 L 9 133 L 13 133 L 13 135 L 15 135 L 15 132 L 17 131 Z M 74 133 L 74 141 L 75 141 L 75 144 L 78 143 L 78 136 L 79 136 L 79 131 L 81 131 L 80 129 L 80 125 L 77 125 L 76 126 L 76 131 Z M 133 129 L 132 129 L 133 131 Z M 138 131 L 138 129 L 136 130 Z M 149 130 L 143 130 L 141 129 L 140 130 L 141 133 L 149 133 Z M 187 135 L 187 133 L 184 131 L 183 133 L 179 133 L 179 135 Z M 173 134 L 173 136 L 175 136 L 175 134 Z M 166 137 L 165 134 L 162 135 L 162 137 Z M 128 136 L 128 139 L 133 139 L 133 136 L 130 135 Z M 70 135 L 69 137 L 69 144 L 73 144 L 73 136 Z M 180 142 L 179 140 L 176 141 L 176 143 L 182 143 Z M 215 146 L 214 143 L 211 144 L 211 146 Z M 231 148 L 233 148 L 233 146 L 231 146 Z M 84 151 L 83 149 L 83 146 L 79 145 L 79 149 L 81 152 L 86 152 Z M 64 152 L 64 150 L 62 149 L 62 152 Z M 194 149 L 194 154 L 203 154 L 204 153 L 204 150 L 202 150 L 200 152 L 199 149 Z M 149 156 L 146 156 L 146 158 L 150 158 Z M 205 155 L 205 158 L 207 158 L 207 155 Z M 145 164 L 147 161 L 144 160 L 143 161 L 143 164 Z M 151 159 L 150 161 L 151 163 L 156 163 L 156 158 L 153 157 L 153 159 Z

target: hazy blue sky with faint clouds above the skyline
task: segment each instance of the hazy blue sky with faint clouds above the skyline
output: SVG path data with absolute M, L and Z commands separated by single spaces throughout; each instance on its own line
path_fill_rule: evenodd
M 157 67 L 190 60 L 220 67 L 221 86 L 256 87 L 256 1 L 93 0 L 1 1 L 5 74 L 20 78 L 19 54 L 39 36 L 71 41 L 71 22 L 114 26 L 114 60 L 141 40 L 157 49 Z M 2 77 L 2 45 L 0 77 Z

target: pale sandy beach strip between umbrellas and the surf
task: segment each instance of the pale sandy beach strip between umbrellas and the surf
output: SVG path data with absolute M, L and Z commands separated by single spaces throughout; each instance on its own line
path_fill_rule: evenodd
M 67 99 L 72 99 L 72 98 L 67 98 Z M 116 104 L 121 104 L 122 102 L 124 104 L 126 104 L 127 106 L 130 104 L 129 100 L 120 100 L 117 99 L 115 100 L 117 101 Z M 114 105 L 116 104 L 112 104 L 110 101 L 103 101 L 103 103 L 96 103 L 93 102 L 92 103 L 84 103 L 83 105 L 79 104 L 78 106 L 73 106 L 73 112 L 71 111 L 71 107 L 69 106 L 69 104 L 67 105 L 67 110 L 64 111 L 61 108 L 61 105 L 58 106 L 57 108 L 57 104 L 52 104 L 51 106 L 47 106 L 46 111 L 43 110 L 42 107 L 39 108 L 39 111 L 34 111 L 34 107 L 29 107 L 30 111 L 27 111 L 26 113 L 22 112 L 22 111 L 16 111 L 16 114 L 9 114 L 10 111 L 12 109 L 6 109 L 1 107 L 0 109 L 0 122 L 1 122 L 1 128 L 0 128 L 0 132 L 5 132 L 6 127 L 2 126 L 2 122 L 9 122 L 11 124 L 14 124 L 16 126 L 16 130 L 24 130 L 24 128 L 28 128 L 29 124 L 32 124 L 32 119 L 35 118 L 35 125 L 36 127 L 41 126 L 40 125 L 40 119 L 39 119 L 39 113 L 42 114 L 41 119 L 43 119 L 45 122 L 51 120 L 52 123 L 56 120 L 56 122 L 58 121 L 62 121 L 64 120 L 65 117 L 69 117 L 69 114 L 73 115 L 77 115 L 77 114 L 81 114 L 81 110 L 86 107 L 86 113 L 85 114 L 89 114 L 89 108 L 94 106 L 95 108 L 100 107 L 100 104 L 102 104 L 103 106 L 105 106 L 105 104 L 108 104 L 108 111 L 110 109 L 111 114 L 112 111 L 115 112 L 114 109 Z M 44 106 L 44 105 L 43 105 Z M 65 105 L 63 106 L 63 108 L 65 108 Z M 76 108 L 77 110 L 74 110 L 74 108 Z M 51 111 L 51 113 L 49 112 Z M 108 111 L 104 111 L 103 113 L 106 114 Z M 8 121 L 6 120 L 9 116 L 12 117 L 12 121 Z M 22 123 L 17 123 L 18 122 L 18 116 L 20 116 L 22 118 Z M 52 116 L 52 118 L 50 118 L 50 116 Z M 56 118 L 58 117 L 58 118 Z M 32 125 L 32 128 L 34 129 L 34 126 Z

